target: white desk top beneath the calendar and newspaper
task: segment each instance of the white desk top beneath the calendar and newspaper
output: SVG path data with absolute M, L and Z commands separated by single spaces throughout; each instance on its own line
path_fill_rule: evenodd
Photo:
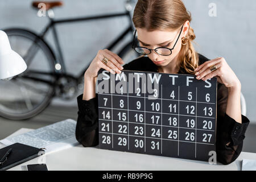
M 15 134 L 28 130 L 18 130 Z M 163 156 L 134 154 L 131 152 L 119 152 L 102 150 L 96 147 L 82 147 L 81 145 L 65 150 L 52 152 L 32 159 L 9 170 L 22 170 L 27 164 L 38 164 L 45 161 L 49 171 L 51 170 L 241 170 L 242 159 L 256 160 L 256 154 L 241 152 L 238 159 L 229 164 L 210 165 L 208 162 L 167 158 Z

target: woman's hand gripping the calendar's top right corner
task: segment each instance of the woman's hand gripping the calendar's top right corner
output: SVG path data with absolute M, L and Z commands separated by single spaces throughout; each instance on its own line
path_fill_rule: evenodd
M 210 67 L 215 65 L 216 69 L 210 71 Z M 216 59 L 205 61 L 205 63 L 199 65 L 195 69 L 197 80 L 208 80 L 212 77 L 217 77 L 218 82 L 221 82 L 228 88 L 238 88 L 241 89 L 241 83 L 238 80 L 236 74 L 229 67 L 228 63 L 223 57 L 217 57 Z

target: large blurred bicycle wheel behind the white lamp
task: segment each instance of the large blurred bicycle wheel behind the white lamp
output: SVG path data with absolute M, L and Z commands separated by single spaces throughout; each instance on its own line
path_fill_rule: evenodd
M 0 115 L 27 119 L 43 111 L 51 101 L 55 59 L 36 34 L 18 28 L 5 30 L 11 48 L 23 57 L 27 70 L 9 81 L 0 80 Z

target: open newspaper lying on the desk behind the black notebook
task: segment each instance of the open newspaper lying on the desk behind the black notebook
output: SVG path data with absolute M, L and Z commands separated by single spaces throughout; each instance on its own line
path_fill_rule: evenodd
M 14 143 L 23 143 L 37 148 L 46 148 L 46 153 L 63 150 L 79 144 L 75 137 L 76 121 L 66 119 L 36 130 L 28 131 L 13 137 L 0 140 L 9 146 Z

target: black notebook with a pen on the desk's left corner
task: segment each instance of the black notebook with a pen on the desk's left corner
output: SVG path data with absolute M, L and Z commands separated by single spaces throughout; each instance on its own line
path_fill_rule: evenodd
M 34 159 L 44 154 L 44 150 L 41 148 L 27 146 L 26 144 L 22 143 L 14 143 L 10 146 L 0 149 L 0 158 L 2 158 L 10 148 L 13 150 L 8 156 L 6 162 L 2 165 L 0 164 L 0 171 L 18 166 L 21 163 L 27 162 L 28 160 Z

